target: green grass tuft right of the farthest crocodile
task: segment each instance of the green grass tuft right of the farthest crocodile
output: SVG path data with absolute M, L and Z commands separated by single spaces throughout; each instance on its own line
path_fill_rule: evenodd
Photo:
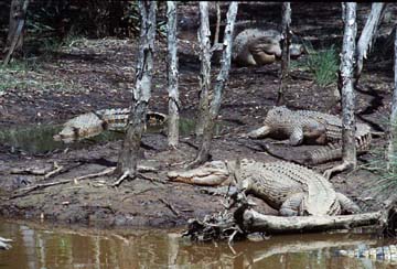
M 304 57 L 303 63 L 292 62 L 292 67 L 303 67 L 313 74 L 315 83 L 321 87 L 326 87 L 336 82 L 339 69 L 337 53 L 332 45 L 325 50 L 314 50 L 311 43 L 304 43 L 308 56 Z

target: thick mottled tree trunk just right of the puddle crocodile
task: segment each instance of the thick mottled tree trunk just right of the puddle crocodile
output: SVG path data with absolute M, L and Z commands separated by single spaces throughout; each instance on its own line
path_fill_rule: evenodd
M 147 107 L 153 72 L 153 49 L 155 36 L 157 1 L 138 1 L 141 15 L 139 56 L 132 105 L 129 115 L 127 136 L 122 142 L 116 173 L 135 176 L 140 152 L 140 142 L 146 129 Z

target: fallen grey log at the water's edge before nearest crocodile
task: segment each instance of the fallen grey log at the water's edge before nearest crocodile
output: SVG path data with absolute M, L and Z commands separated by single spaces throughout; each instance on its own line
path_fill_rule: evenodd
M 246 232 L 268 234 L 312 233 L 334 229 L 351 229 L 382 223 L 383 212 L 344 216 L 269 216 L 254 209 L 243 213 L 243 227 Z

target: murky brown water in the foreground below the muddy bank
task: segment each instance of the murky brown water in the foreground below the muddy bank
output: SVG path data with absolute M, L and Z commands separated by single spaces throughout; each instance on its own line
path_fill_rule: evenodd
M 396 268 L 397 263 L 340 257 L 335 249 L 382 245 L 371 235 L 277 236 L 197 244 L 175 230 L 60 229 L 36 224 L 0 223 L 12 248 L 0 251 L 0 268 Z

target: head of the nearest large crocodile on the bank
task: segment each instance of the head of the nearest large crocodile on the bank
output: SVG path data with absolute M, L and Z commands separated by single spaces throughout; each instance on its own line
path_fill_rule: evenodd
M 213 186 L 226 183 L 229 173 L 225 162 L 212 161 L 187 171 L 170 171 L 167 175 L 171 181 Z

